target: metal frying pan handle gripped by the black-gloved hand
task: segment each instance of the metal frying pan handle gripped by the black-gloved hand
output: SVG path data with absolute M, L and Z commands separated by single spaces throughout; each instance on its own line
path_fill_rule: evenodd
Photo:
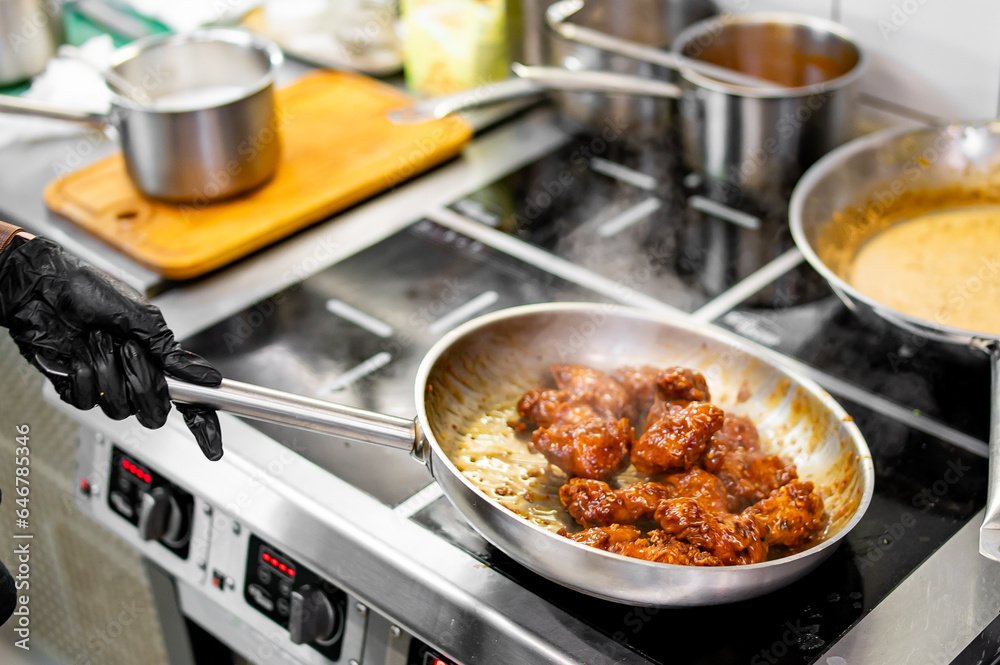
M 406 450 L 420 457 L 422 437 L 413 420 L 321 399 L 223 379 L 217 388 L 167 377 L 170 399 L 202 404 L 254 420 Z

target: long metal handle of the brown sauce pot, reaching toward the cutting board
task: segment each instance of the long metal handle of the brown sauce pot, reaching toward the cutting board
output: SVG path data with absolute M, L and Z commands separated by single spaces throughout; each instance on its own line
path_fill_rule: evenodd
M 400 125 L 425 122 L 443 118 L 456 111 L 505 102 L 518 97 L 539 95 L 549 90 L 606 92 L 670 99 L 680 99 L 683 94 L 673 83 L 641 76 L 586 70 L 572 71 L 561 67 L 527 67 L 519 63 L 511 65 L 511 69 L 517 78 L 489 83 L 453 95 L 423 99 L 413 106 L 390 111 L 389 119 Z

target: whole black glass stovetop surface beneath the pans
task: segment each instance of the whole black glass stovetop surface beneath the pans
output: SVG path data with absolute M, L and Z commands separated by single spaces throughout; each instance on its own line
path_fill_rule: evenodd
M 662 153 L 598 151 L 590 139 L 451 210 L 689 312 L 791 247 L 783 211 L 719 208 Z M 544 261 L 533 265 L 439 221 L 416 221 L 185 344 L 235 379 L 410 417 L 416 366 L 449 329 L 517 304 L 603 299 L 553 276 Z M 855 401 L 840 401 L 875 462 L 864 519 L 809 576 L 722 607 L 632 608 L 539 578 L 483 541 L 444 499 L 412 519 L 653 663 L 820 660 L 982 508 L 986 460 L 947 439 L 985 438 L 989 373 L 971 353 L 949 355 L 861 325 L 805 265 L 748 295 L 718 323 L 849 382 Z M 903 407 L 906 417 L 865 395 Z M 944 438 L 925 433 L 928 419 L 946 425 Z M 430 483 L 398 451 L 252 424 L 389 506 Z

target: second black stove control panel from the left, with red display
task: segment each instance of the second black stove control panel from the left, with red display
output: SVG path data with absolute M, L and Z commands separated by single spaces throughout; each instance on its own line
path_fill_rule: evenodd
M 340 659 L 347 595 L 281 550 L 250 535 L 243 596 L 295 644 Z

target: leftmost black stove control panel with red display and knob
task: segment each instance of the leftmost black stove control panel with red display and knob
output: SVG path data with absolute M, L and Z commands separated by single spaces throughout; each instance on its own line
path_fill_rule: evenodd
M 181 559 L 191 543 L 194 499 L 148 464 L 115 446 L 108 506 L 132 524 L 142 540 L 158 542 Z

